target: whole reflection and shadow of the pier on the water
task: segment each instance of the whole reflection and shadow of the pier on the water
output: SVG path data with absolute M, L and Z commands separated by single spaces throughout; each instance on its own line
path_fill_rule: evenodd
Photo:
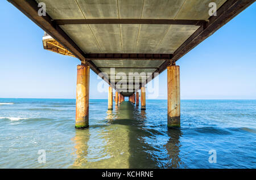
M 106 111 L 105 118 L 76 131 L 71 168 L 179 168 L 181 131 L 155 121 L 130 102 Z

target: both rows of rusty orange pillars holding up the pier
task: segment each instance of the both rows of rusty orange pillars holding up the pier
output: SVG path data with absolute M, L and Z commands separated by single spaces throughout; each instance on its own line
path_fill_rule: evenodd
M 89 126 L 89 79 L 90 68 L 87 65 L 77 66 L 76 87 L 76 128 Z M 167 125 L 168 127 L 180 127 L 180 67 L 167 67 Z M 113 88 L 109 87 L 108 109 L 113 109 Z M 115 92 L 115 105 L 125 101 L 125 97 Z M 129 101 L 139 105 L 139 93 L 133 93 Z M 146 89 L 141 87 L 141 109 L 146 109 Z

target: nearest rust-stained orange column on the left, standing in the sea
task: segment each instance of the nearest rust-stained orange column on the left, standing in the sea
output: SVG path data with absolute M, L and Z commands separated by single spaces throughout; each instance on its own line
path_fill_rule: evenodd
M 90 67 L 87 65 L 78 65 L 76 84 L 76 128 L 89 126 L 89 80 Z

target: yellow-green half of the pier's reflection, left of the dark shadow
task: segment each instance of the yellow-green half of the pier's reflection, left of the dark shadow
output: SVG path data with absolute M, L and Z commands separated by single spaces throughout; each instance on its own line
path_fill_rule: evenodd
M 118 112 L 118 109 L 122 109 Z M 88 130 L 77 131 L 73 138 L 77 158 L 71 168 L 129 168 L 130 113 L 125 106 L 108 110 L 101 123 Z

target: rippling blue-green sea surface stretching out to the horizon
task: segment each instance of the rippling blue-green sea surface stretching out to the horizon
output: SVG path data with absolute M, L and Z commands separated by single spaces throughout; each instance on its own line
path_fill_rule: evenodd
M 0 98 L 0 168 L 256 168 L 256 100 L 181 100 L 179 129 L 166 100 L 90 100 L 90 127 L 76 130 L 75 102 Z

